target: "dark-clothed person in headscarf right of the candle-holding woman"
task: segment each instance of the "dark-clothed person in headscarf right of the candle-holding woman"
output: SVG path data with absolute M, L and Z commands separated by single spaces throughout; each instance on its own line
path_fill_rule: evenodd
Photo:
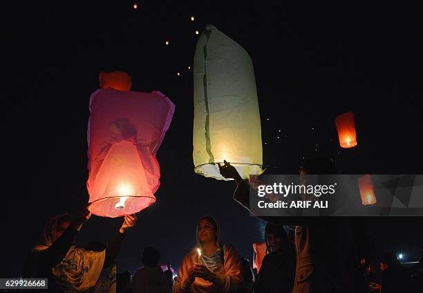
M 295 276 L 294 245 L 282 226 L 267 223 L 266 256 L 254 282 L 256 293 L 291 293 Z

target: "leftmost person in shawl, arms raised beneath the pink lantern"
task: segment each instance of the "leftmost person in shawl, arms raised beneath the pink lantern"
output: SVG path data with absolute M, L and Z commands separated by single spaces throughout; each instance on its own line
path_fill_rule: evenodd
M 48 292 L 105 292 L 97 290 L 97 281 L 113 264 L 125 231 L 135 225 L 136 215 L 125 216 L 108 249 L 89 251 L 73 245 L 77 233 L 91 216 L 89 206 L 73 215 L 57 215 L 46 223 L 42 243 L 32 249 L 23 269 L 24 278 L 48 278 Z M 111 284 L 106 292 L 113 292 L 113 288 Z

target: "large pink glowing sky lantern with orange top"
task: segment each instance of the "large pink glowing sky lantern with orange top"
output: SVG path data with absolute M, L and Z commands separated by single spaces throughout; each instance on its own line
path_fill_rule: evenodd
M 104 76 L 107 88 L 102 86 L 90 98 L 87 188 L 94 215 L 120 217 L 156 202 L 156 152 L 175 105 L 160 91 L 119 90 L 131 85 L 126 73 L 100 73 L 100 81 Z

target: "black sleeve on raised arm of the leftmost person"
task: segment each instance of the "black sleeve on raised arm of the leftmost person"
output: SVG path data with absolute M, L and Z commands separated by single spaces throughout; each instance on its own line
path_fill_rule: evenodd
M 69 225 L 66 231 L 57 238 L 53 245 L 42 252 L 40 266 L 44 268 L 51 268 L 58 265 L 71 248 L 77 233 L 77 229 L 75 229 L 72 225 Z

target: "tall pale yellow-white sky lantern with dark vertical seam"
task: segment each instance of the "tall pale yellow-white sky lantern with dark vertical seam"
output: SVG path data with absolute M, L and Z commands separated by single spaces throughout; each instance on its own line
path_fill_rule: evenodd
M 195 172 L 225 179 L 217 163 L 226 160 L 243 178 L 261 174 L 261 123 L 250 56 L 207 26 L 197 42 L 193 72 Z

